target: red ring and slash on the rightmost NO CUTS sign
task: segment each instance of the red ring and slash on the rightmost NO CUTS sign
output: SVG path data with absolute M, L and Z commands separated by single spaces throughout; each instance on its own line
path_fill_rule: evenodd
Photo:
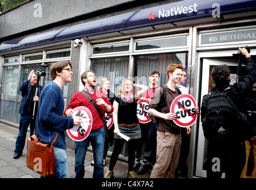
M 181 95 L 177 96 L 172 101 L 172 105 L 170 105 L 170 112 L 171 113 L 176 113 L 175 108 L 176 108 L 176 106 L 178 106 L 178 102 L 182 99 L 190 100 L 193 103 L 192 107 L 197 106 L 196 103 L 195 103 L 194 98 L 190 94 L 181 94 Z M 189 107 L 191 107 L 191 106 L 189 106 Z M 189 121 L 188 122 L 183 122 L 183 121 L 181 121 L 182 119 L 176 118 L 176 119 L 173 120 L 173 122 L 175 122 L 176 125 L 181 126 L 181 127 L 188 127 L 188 126 L 193 125 L 195 120 L 197 119 L 197 113 L 195 112 L 195 115 L 189 115 L 189 114 L 187 115 L 188 109 L 185 106 L 184 107 L 181 106 L 181 109 L 186 110 L 186 116 L 187 116 L 187 118 L 189 118 L 188 119 Z M 190 118 L 192 118 L 192 119 L 190 119 Z

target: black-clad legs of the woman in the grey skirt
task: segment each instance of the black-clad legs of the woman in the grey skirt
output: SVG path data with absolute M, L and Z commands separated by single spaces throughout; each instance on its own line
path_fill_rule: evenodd
M 131 139 L 130 141 L 128 141 L 128 171 L 133 170 L 134 161 L 135 161 L 135 147 L 138 145 L 138 141 L 140 141 L 140 138 Z M 118 156 L 121 153 L 122 148 L 124 147 L 124 143 L 125 143 L 124 139 L 115 138 L 114 149 L 110 157 L 110 163 L 109 163 L 110 171 L 114 169 L 115 164 L 118 160 Z

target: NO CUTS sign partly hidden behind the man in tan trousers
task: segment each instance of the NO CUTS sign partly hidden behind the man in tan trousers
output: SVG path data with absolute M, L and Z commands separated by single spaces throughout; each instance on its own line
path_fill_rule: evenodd
M 138 121 L 142 124 L 147 124 L 151 121 L 150 113 L 148 113 L 148 103 L 141 102 L 140 100 L 137 102 L 137 118 Z

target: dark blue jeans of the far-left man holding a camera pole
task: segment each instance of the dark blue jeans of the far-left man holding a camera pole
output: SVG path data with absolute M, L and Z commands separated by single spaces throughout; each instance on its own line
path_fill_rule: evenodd
M 20 115 L 20 126 L 14 152 L 22 154 L 26 143 L 27 128 L 30 125 L 30 136 L 33 135 L 36 119 L 32 115 Z

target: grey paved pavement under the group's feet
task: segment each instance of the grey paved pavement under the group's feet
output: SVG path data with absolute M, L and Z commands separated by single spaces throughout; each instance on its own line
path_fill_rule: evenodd
M 0 122 L 0 178 L 40 178 L 40 175 L 30 170 L 26 165 L 27 145 L 25 145 L 23 154 L 19 159 L 13 159 L 15 142 L 18 136 L 18 128 Z M 27 132 L 29 138 L 29 132 Z M 27 139 L 26 138 L 26 139 Z M 27 143 L 26 143 L 27 144 Z M 75 151 L 67 148 L 69 178 L 75 178 L 74 164 Z M 84 163 L 85 174 L 84 178 L 93 178 L 93 153 L 87 150 L 86 159 Z M 109 167 L 110 157 L 106 158 L 106 166 Z M 126 178 L 126 170 L 128 163 L 123 160 L 118 160 L 114 167 L 115 178 Z M 151 170 L 148 170 L 144 175 L 137 175 L 137 178 L 149 178 Z

